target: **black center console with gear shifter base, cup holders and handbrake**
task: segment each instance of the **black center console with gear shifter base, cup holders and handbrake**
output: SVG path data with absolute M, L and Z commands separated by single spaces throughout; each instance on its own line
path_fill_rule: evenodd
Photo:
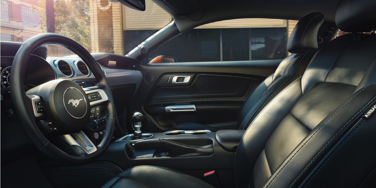
M 172 130 L 141 133 L 138 139 L 129 134 L 110 144 L 99 160 L 111 161 L 123 169 L 164 166 L 196 177 L 215 170 L 219 179 L 228 180 L 233 177 L 235 151 L 243 134 L 244 130 Z

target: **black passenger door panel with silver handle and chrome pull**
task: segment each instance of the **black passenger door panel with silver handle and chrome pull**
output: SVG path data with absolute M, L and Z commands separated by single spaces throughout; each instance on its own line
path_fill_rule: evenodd
M 150 126 L 143 127 L 144 132 L 162 132 L 186 122 L 237 129 L 236 120 L 244 100 L 275 71 L 280 61 L 142 64 L 144 80 L 124 121 L 130 125 L 130 117 L 138 111 L 150 120 Z M 187 83 L 174 84 L 174 76 L 191 77 Z M 195 111 L 166 111 L 171 105 L 194 105 Z M 133 131 L 132 126 L 128 129 Z

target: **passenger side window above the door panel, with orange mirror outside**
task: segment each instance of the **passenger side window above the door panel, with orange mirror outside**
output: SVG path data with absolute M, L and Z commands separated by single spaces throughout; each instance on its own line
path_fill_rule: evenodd
M 150 53 L 177 62 L 284 59 L 288 37 L 297 21 L 244 18 L 205 24 L 166 42 Z

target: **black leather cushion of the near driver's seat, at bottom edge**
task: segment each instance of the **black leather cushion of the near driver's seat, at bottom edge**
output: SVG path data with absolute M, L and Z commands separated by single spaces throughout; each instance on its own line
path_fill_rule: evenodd
M 110 187 L 179 187 L 179 188 L 214 188 L 196 177 L 179 171 L 157 166 L 136 166 L 129 168 L 111 179 L 102 188 Z

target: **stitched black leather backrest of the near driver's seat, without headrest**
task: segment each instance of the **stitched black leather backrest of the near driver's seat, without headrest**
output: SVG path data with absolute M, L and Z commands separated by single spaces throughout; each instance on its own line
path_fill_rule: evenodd
M 294 187 L 312 178 L 315 163 L 375 102 L 376 79 L 367 76 L 375 74 L 375 47 L 375 35 L 350 33 L 334 39 L 317 52 L 302 78 L 263 106 L 235 156 L 237 187 Z M 368 162 L 371 167 L 357 168 L 370 173 L 376 163 Z M 316 180 L 316 185 L 322 183 Z M 333 182 L 327 179 L 326 185 Z

